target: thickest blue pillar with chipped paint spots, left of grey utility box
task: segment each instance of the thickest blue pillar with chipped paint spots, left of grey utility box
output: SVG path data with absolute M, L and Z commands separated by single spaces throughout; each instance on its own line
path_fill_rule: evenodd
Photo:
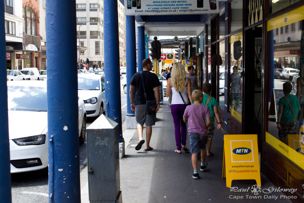
M 49 202 L 81 202 L 75 9 L 74 0 L 46 2 Z

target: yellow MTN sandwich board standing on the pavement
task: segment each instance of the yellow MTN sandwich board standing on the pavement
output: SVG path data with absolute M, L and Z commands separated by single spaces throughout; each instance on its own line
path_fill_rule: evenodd
M 226 187 L 233 180 L 255 180 L 261 186 L 257 134 L 225 134 L 223 174 Z

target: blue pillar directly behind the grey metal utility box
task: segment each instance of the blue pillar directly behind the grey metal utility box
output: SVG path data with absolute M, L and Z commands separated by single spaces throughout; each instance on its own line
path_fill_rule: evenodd
M 119 142 L 123 142 L 122 102 L 120 95 L 120 63 L 117 1 L 103 2 L 104 80 L 106 116 L 118 123 Z

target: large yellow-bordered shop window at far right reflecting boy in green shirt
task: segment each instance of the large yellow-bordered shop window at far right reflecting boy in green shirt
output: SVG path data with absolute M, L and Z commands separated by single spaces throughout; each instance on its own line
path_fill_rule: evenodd
M 295 19 L 293 18 L 294 16 L 292 16 L 292 13 L 288 13 L 288 17 L 289 19 Z M 282 18 L 282 20 L 284 20 L 285 16 L 282 15 L 278 18 Z M 267 133 L 266 140 L 269 140 L 270 138 L 275 139 L 275 141 L 272 140 L 267 142 L 270 144 L 278 142 L 280 146 L 286 149 L 290 147 L 288 149 L 290 155 L 289 158 L 291 160 L 293 160 L 292 157 L 298 156 L 299 154 L 304 156 L 304 137 L 301 136 L 301 133 L 296 132 L 295 130 L 295 118 L 290 111 L 288 101 L 284 97 L 286 94 L 293 106 L 292 109 L 295 113 L 296 119 L 300 123 L 303 123 L 304 110 L 301 107 L 304 105 L 304 97 L 301 90 L 304 88 L 304 86 L 302 86 L 301 81 L 304 79 L 304 70 L 301 65 L 301 61 L 304 60 L 304 57 L 301 55 L 301 53 L 304 51 L 304 44 L 301 42 L 304 41 L 304 30 L 298 30 L 295 25 L 299 26 L 301 24 L 301 27 L 303 27 L 304 15 L 297 15 L 296 19 L 300 21 L 290 22 L 290 24 L 285 26 L 285 28 L 287 26 L 290 27 L 290 32 L 288 32 L 288 35 L 285 36 L 284 34 L 283 38 L 282 36 L 281 38 L 279 36 L 274 36 L 273 39 L 268 40 L 270 42 L 269 50 L 272 51 L 270 55 L 274 56 L 274 60 L 273 64 L 270 64 L 269 66 L 269 69 L 271 69 L 269 73 L 271 74 L 268 76 L 268 78 L 265 78 L 265 81 L 271 81 L 269 84 L 273 84 L 273 86 L 267 85 L 268 89 L 265 90 L 269 92 L 269 99 L 271 99 L 270 103 L 268 103 L 269 115 L 267 132 L 269 134 Z M 280 26 L 275 22 L 276 21 L 272 20 L 268 22 L 271 25 L 268 27 L 268 32 L 270 33 L 269 36 L 272 36 L 272 32 L 277 28 L 277 26 Z M 276 41 L 278 43 L 272 44 L 272 41 Z M 286 45 L 281 46 L 282 43 Z M 283 91 L 283 84 L 285 87 L 285 92 Z M 279 122 L 279 124 L 277 124 L 277 122 Z M 286 128 L 288 124 L 288 133 L 284 133 L 278 129 L 278 127 L 281 127 L 281 129 Z M 291 156 L 291 154 L 297 155 Z M 301 159 L 303 160 L 303 158 L 304 157 Z

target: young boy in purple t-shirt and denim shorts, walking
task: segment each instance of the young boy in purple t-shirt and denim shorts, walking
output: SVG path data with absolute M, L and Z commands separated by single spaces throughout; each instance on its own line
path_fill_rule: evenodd
M 192 166 L 194 179 L 199 178 L 198 173 L 198 153 L 201 153 L 201 171 L 205 171 L 207 168 L 206 160 L 206 143 L 208 138 L 207 128 L 209 127 L 211 120 L 211 114 L 207 106 L 201 105 L 203 102 L 203 92 L 201 90 L 194 90 L 192 92 L 192 98 L 194 100 L 193 105 L 186 107 L 183 121 L 188 123 L 188 132 L 190 138 L 190 152 L 192 153 Z M 207 122 L 205 122 L 205 118 Z

